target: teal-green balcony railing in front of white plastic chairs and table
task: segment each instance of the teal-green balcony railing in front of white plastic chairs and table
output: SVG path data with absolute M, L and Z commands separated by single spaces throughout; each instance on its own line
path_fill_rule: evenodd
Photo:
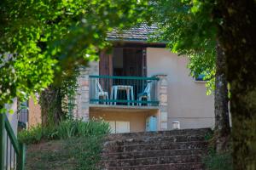
M 158 77 L 90 76 L 90 104 L 158 106 Z

